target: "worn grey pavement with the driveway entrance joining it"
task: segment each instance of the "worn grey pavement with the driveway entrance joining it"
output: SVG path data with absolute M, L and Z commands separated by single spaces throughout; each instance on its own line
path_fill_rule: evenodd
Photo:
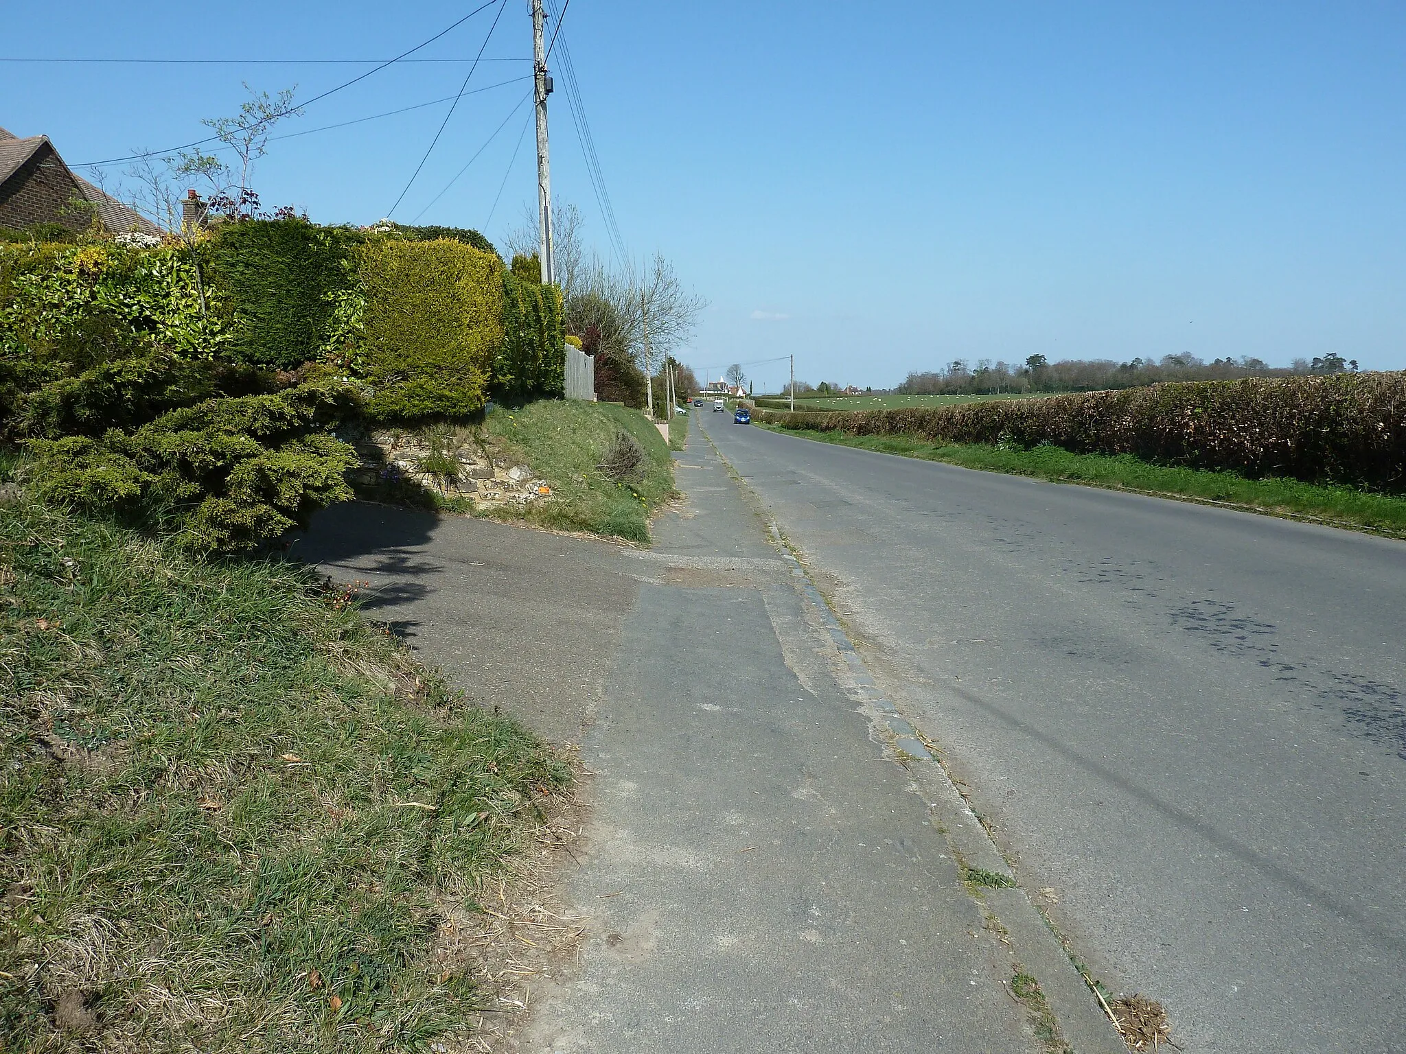
M 679 461 L 686 500 L 651 551 L 371 506 L 299 542 L 371 580 L 378 617 L 471 694 L 585 729 L 567 895 L 591 923 L 516 1048 L 1040 1051 L 1019 964 L 1076 1050 L 1119 1050 L 1019 891 L 963 885 L 957 852 L 1002 863 L 941 770 L 896 752 L 844 634 L 696 431 Z M 546 676 L 515 687 L 515 659 Z

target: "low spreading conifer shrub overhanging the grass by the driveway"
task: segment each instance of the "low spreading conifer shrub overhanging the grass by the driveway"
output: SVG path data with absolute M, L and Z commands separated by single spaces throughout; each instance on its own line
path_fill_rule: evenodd
M 132 431 L 30 440 L 35 496 L 118 513 L 197 552 L 252 549 L 352 490 L 352 447 L 323 431 L 356 396 L 335 382 L 214 398 Z

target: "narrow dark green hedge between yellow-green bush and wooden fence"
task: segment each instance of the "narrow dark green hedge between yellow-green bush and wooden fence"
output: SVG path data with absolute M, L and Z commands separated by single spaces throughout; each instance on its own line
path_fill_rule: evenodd
M 567 384 L 567 332 L 555 285 L 503 273 L 503 340 L 494 361 L 494 393 L 522 402 L 560 399 Z

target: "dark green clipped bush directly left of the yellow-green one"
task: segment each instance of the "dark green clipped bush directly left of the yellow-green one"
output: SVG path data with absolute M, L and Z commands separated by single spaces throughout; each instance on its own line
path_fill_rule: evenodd
M 352 285 L 347 256 L 360 239 L 305 219 L 224 225 L 212 246 L 233 312 L 228 357 L 278 370 L 316 358 L 337 295 Z

